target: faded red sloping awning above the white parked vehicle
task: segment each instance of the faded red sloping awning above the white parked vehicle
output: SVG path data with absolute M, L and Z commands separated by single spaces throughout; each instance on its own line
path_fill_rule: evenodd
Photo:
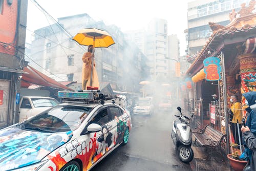
M 64 89 L 64 90 L 73 90 L 69 87 L 64 86 L 63 84 L 55 81 L 54 79 L 46 76 L 45 74 L 37 71 L 31 66 L 27 66 L 24 68 L 24 72 L 28 74 L 22 74 L 22 85 L 23 88 L 28 88 L 32 84 L 36 84 L 38 86 L 51 87 L 56 89 Z

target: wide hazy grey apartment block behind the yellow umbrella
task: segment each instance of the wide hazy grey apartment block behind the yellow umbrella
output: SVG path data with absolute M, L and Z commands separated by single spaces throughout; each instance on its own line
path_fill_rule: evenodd
M 61 17 L 57 24 L 36 30 L 31 44 L 34 62 L 30 65 L 57 81 L 81 82 L 81 57 L 88 47 L 78 45 L 72 38 L 83 28 L 105 30 L 115 41 L 109 48 L 95 49 L 99 82 L 110 82 L 114 90 L 139 91 L 137 85 L 146 77 L 144 54 L 124 41 L 123 33 L 115 25 L 96 22 L 88 14 Z

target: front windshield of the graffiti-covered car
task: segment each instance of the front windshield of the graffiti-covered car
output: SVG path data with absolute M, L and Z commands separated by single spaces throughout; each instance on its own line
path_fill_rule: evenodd
M 58 105 L 24 122 L 22 128 L 39 132 L 74 131 L 93 108 Z

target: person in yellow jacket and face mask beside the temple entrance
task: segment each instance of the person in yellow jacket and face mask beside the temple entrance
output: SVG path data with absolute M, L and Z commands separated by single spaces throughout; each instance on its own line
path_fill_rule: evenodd
M 234 142 L 236 144 L 242 143 L 242 109 L 241 109 L 241 103 L 238 101 L 237 95 L 230 96 L 230 102 L 231 102 L 231 108 L 230 110 L 233 113 L 233 119 L 231 120 L 231 130 L 234 137 Z M 239 129 L 238 126 L 239 125 Z M 240 142 L 239 142 L 239 134 L 240 134 Z M 242 145 L 242 144 L 241 144 Z

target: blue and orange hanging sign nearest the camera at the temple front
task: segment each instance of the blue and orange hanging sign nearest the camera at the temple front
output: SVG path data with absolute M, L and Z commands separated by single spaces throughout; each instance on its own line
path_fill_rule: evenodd
M 217 81 L 221 78 L 220 59 L 217 57 L 207 57 L 203 61 L 205 79 L 207 81 Z

